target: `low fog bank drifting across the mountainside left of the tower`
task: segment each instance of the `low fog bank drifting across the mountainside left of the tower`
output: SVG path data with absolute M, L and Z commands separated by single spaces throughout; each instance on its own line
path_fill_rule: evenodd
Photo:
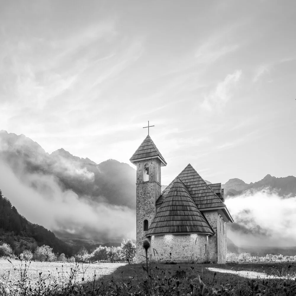
M 20 178 L 0 161 L 0 188 L 28 221 L 80 239 L 108 241 L 135 238 L 135 213 L 128 207 L 110 205 L 104 197 L 92 201 L 60 188 L 50 175 L 26 173 Z

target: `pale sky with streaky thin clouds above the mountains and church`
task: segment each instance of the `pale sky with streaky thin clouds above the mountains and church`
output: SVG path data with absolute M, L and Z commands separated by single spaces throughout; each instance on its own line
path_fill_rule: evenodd
M 186 5 L 184 5 L 184 3 Z M 295 1 L 1 1 L 0 126 L 167 185 L 295 175 Z

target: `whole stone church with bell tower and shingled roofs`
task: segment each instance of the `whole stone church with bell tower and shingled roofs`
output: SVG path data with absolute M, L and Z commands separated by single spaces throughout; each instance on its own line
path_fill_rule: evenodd
M 148 136 L 130 158 L 136 165 L 136 260 L 226 262 L 226 225 L 233 219 L 221 183 L 207 184 L 188 164 L 161 192 L 167 163 Z

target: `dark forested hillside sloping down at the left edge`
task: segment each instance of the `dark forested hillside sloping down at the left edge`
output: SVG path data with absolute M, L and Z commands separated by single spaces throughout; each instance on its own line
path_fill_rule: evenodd
M 0 244 L 3 242 L 10 244 L 17 255 L 25 249 L 35 250 L 44 244 L 52 247 L 55 253 L 65 253 L 67 256 L 73 254 L 72 247 L 58 239 L 51 231 L 30 223 L 20 215 L 0 190 Z

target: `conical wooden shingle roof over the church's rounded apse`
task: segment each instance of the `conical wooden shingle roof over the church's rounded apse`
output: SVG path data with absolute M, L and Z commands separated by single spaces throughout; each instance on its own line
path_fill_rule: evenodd
M 170 233 L 214 234 L 207 219 L 198 210 L 186 186 L 178 177 L 172 182 L 146 236 Z

